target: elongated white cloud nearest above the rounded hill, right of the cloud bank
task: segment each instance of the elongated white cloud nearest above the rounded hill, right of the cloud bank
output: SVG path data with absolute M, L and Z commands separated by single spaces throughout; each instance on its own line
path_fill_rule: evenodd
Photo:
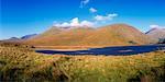
M 97 21 L 109 21 L 113 20 L 113 17 L 118 16 L 117 13 L 108 14 L 108 15 L 96 15 L 95 20 Z

